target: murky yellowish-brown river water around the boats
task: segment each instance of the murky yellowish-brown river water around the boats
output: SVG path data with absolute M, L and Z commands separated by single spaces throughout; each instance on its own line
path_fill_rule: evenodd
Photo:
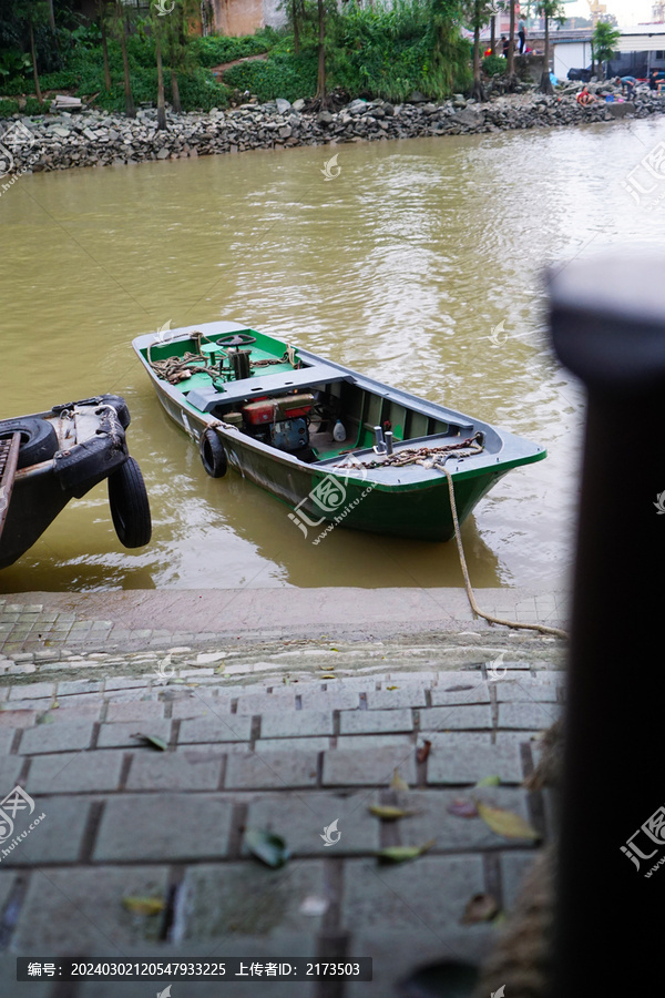
M 0 413 L 124 395 L 154 530 L 124 550 L 99 486 L 0 591 L 461 584 L 452 542 L 337 529 L 313 547 L 268 493 L 205 475 L 131 340 L 218 318 L 545 445 L 463 537 L 474 585 L 564 588 L 583 397 L 549 347 L 542 272 L 662 241 L 662 216 L 623 184 L 663 121 L 20 177 L 0 197 Z M 340 172 L 326 181 L 332 153 Z

